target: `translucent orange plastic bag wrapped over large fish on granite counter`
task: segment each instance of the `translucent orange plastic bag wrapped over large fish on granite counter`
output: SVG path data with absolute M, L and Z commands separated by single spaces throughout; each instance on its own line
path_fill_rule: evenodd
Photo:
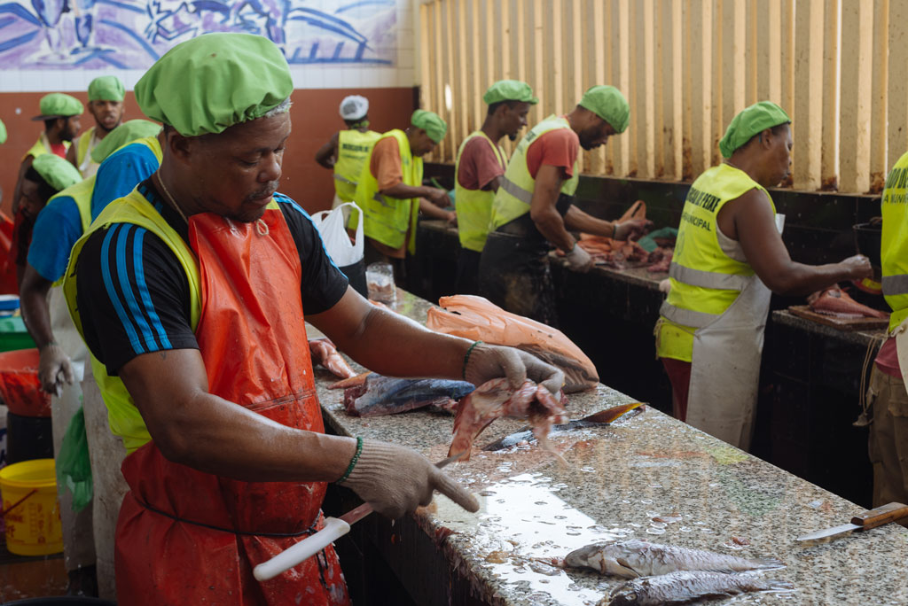
M 564 371 L 566 393 L 597 386 L 593 362 L 560 330 L 499 308 L 473 295 L 439 298 L 443 309 L 430 308 L 426 327 L 436 332 L 518 347 Z

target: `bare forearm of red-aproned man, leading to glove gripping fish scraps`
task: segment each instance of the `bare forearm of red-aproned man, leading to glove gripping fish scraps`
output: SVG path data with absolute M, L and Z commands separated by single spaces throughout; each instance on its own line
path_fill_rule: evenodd
M 331 309 L 308 316 L 344 353 L 381 375 L 462 379 L 470 341 L 378 308 L 352 288 Z

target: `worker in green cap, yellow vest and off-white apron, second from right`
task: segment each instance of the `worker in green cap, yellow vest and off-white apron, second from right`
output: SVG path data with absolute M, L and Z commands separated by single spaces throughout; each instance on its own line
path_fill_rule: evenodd
M 772 293 L 807 295 L 872 273 L 861 255 L 813 266 L 795 263 L 785 249 L 784 216 L 766 188 L 790 169 L 790 123 L 781 107 L 762 101 L 728 124 L 719 142 L 725 161 L 687 193 L 655 330 L 676 418 L 744 450 Z

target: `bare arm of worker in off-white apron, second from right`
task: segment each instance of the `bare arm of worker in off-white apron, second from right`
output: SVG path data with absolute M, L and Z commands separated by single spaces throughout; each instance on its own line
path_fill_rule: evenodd
M 870 265 L 864 258 L 825 265 L 793 261 L 775 227 L 775 216 L 764 191 L 747 191 L 726 202 L 719 210 L 717 221 L 719 230 L 741 243 L 747 263 L 776 294 L 808 295 L 840 280 L 860 279 L 871 274 Z

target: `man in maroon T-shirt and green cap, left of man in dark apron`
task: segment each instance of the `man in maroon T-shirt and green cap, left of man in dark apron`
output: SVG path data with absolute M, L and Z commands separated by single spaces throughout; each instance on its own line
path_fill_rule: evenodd
M 489 105 L 482 128 L 460 143 L 454 164 L 460 250 L 455 289 L 461 295 L 479 294 L 479 257 L 489 237 L 492 201 L 508 168 L 508 157 L 498 146 L 502 137 L 517 140 L 527 125 L 531 105 L 539 103 L 528 83 L 500 80 L 489 86 L 482 100 Z

